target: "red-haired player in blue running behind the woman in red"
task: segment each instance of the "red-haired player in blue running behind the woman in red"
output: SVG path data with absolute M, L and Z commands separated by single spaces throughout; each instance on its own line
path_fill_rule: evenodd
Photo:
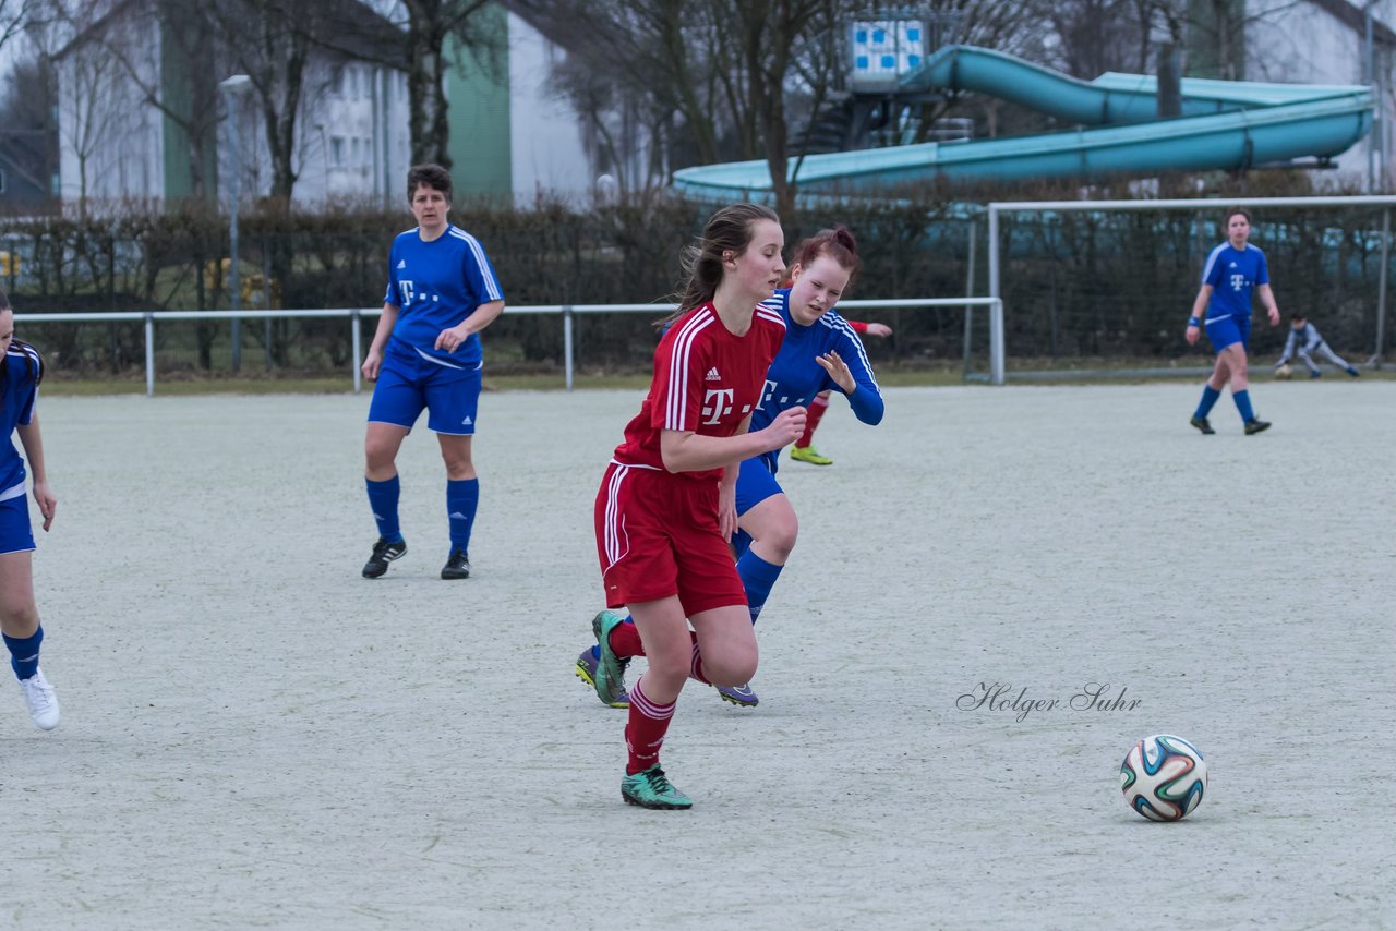
M 786 335 L 766 371 L 761 403 L 751 415 L 751 431 L 765 429 L 782 410 L 805 406 L 828 389 L 843 392 L 863 423 L 882 420 L 882 392 L 872 377 L 863 342 L 849 322 L 832 310 L 857 267 L 857 243 L 842 226 L 800 243 L 792 264 L 790 288 L 776 290 L 762 303 L 780 313 Z M 779 455 L 780 451 L 775 449 L 747 459 L 737 476 L 737 535 L 732 544 L 752 624 L 761 617 L 799 532 L 794 508 L 776 482 Z M 593 650 L 582 650 L 577 659 L 577 676 L 592 684 L 596 662 Z M 754 708 L 758 703 L 750 683 L 716 688 L 733 705 Z M 611 702 L 616 708 L 627 703 L 624 694 Z

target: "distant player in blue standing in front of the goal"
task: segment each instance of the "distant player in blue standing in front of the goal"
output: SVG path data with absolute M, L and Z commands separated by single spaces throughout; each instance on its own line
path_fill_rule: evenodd
M 1192 426 L 1203 434 L 1216 430 L 1208 423 L 1212 405 L 1222 396 L 1222 389 L 1231 382 L 1231 399 L 1241 412 L 1241 423 L 1247 435 L 1269 430 L 1270 424 L 1255 416 L 1251 408 L 1251 392 L 1247 381 L 1245 348 L 1251 339 L 1251 293 L 1265 304 L 1270 325 L 1280 324 L 1280 308 L 1275 304 L 1270 290 L 1270 272 L 1265 265 L 1265 253 L 1249 244 L 1251 215 L 1242 209 L 1231 209 L 1226 215 L 1227 241 L 1208 255 L 1202 269 L 1202 289 L 1192 301 L 1192 315 L 1188 317 L 1185 332 L 1188 345 L 1196 343 L 1203 324 L 1208 339 L 1216 349 L 1217 362 L 1202 389 L 1202 401 L 1192 415 Z M 1203 313 L 1206 318 L 1203 320 Z

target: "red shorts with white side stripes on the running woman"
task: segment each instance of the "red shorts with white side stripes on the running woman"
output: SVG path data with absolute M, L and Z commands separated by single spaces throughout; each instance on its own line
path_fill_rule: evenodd
M 718 530 L 716 482 L 613 462 L 596 494 L 596 553 L 606 607 L 677 595 L 692 617 L 747 603 Z

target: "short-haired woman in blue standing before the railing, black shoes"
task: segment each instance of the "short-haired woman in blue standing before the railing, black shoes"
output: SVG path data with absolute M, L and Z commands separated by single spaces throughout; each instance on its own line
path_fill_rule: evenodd
M 408 202 L 417 226 L 392 240 L 383 317 L 363 362 L 364 377 L 378 382 L 364 438 L 378 542 L 363 576 L 378 578 L 408 551 L 398 525 L 396 458 L 426 408 L 447 475 L 451 551 L 441 578 L 463 579 L 470 575 L 470 528 L 480 500 L 470 461 L 484 367 L 479 334 L 503 313 L 504 292 L 480 243 L 447 219 L 451 174 L 444 167 L 410 169 Z

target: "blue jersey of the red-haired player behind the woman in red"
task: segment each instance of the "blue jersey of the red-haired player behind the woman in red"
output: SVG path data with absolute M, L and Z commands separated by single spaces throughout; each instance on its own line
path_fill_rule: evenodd
M 853 327 L 839 315 L 838 310 L 829 310 L 808 327 L 801 327 L 790 318 L 789 288 L 778 290 L 762 306 L 780 311 L 780 317 L 786 321 L 786 338 L 766 371 L 766 385 L 761 392 L 761 403 L 751 415 L 752 431 L 769 426 L 782 410 L 796 405 L 808 405 L 821 391 L 829 388 L 843 391 L 824 370 L 824 366 L 815 362 L 818 356 L 831 350 L 839 353 L 857 384 L 857 389 L 849 395 L 849 406 L 853 413 L 868 424 L 882 420 L 882 392 L 877 387 L 877 378 L 872 377 L 867 350 L 863 349 L 863 341 L 853 332 Z M 772 472 L 775 472 L 778 454 L 779 451 L 775 451 L 764 456 Z

